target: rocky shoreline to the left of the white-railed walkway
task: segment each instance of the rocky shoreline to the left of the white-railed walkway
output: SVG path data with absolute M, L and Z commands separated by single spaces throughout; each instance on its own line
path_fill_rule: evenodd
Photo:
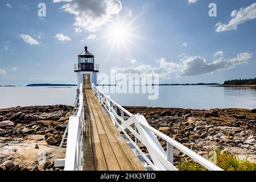
M 72 110 L 65 105 L 0 109 L 0 171 L 61 170 L 53 168 L 53 160 Z M 65 148 L 60 158 L 64 155 Z

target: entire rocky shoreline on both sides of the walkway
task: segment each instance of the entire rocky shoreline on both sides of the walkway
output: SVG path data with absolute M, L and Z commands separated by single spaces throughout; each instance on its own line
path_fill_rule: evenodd
M 209 150 L 222 150 L 256 162 L 256 110 L 125 108 L 143 114 L 152 127 L 197 154 L 206 157 Z M 0 171 L 63 170 L 54 168 L 53 160 L 72 111 L 65 105 L 0 109 Z M 59 158 L 65 155 L 66 142 Z M 175 150 L 174 155 L 179 162 L 184 154 Z

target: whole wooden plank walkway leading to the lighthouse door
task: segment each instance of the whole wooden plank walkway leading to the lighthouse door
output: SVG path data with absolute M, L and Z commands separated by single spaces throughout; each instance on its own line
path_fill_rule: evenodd
M 92 90 L 84 90 L 84 171 L 144 171 Z

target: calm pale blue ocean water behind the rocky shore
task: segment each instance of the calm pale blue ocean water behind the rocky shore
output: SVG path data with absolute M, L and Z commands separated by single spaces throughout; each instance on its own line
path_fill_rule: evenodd
M 110 87 L 101 86 L 101 89 Z M 34 105 L 73 105 L 75 87 L 0 87 L 0 108 Z M 110 94 L 123 106 L 180 107 L 185 109 L 256 108 L 256 89 L 212 86 L 159 86 L 158 100 L 148 94 Z

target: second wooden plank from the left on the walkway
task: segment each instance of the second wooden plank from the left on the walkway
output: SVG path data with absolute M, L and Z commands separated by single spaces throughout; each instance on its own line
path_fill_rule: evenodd
M 86 106 L 88 107 L 88 116 L 89 122 L 91 126 L 91 135 L 92 135 L 92 148 L 93 148 L 93 159 L 94 159 L 94 168 L 96 171 L 108 171 L 108 167 L 106 165 L 104 152 L 102 150 L 100 137 L 98 135 L 98 130 L 96 126 L 96 122 L 94 120 L 94 116 L 92 111 L 90 110 L 88 103 L 88 94 L 85 90 L 85 98 L 86 98 Z M 86 147 L 86 146 L 85 146 Z

